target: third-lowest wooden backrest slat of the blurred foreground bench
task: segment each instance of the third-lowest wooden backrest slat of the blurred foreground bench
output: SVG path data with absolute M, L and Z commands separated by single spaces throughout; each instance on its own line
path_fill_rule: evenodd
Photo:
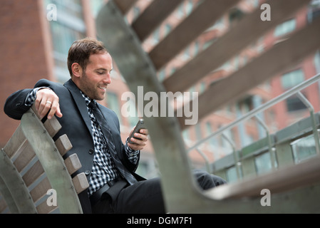
M 159 70 L 165 66 L 238 1 L 207 0 L 200 4 L 190 16 L 150 51 L 149 56 L 155 68 Z

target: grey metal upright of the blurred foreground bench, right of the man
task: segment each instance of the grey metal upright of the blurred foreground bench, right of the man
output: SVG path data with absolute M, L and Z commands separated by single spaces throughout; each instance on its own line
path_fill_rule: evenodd
M 98 36 L 113 56 L 135 98 L 138 98 L 138 86 L 143 86 L 145 93 L 153 91 L 160 95 L 165 91 L 138 37 L 127 26 L 113 1 L 109 1 L 100 10 L 96 23 Z M 171 108 L 170 105 L 167 105 L 167 108 Z M 167 211 L 172 211 L 170 208 L 172 202 L 193 204 L 197 199 L 195 197 L 186 199 L 185 195 L 197 195 L 197 183 L 191 174 L 190 160 L 185 152 L 185 143 L 180 134 L 177 118 L 150 117 L 145 118 L 145 123 L 150 138 L 155 139 L 152 141 L 160 172 L 164 177 L 161 179 L 161 184 Z M 185 195 L 181 195 L 181 191 Z

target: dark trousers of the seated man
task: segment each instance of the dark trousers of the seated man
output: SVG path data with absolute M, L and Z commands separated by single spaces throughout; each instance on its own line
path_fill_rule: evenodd
M 203 190 L 226 183 L 221 177 L 210 175 L 202 170 L 195 170 L 195 177 Z M 164 214 L 165 204 L 162 197 L 160 177 L 143 180 L 125 187 L 118 198 L 100 200 L 93 208 L 97 214 Z

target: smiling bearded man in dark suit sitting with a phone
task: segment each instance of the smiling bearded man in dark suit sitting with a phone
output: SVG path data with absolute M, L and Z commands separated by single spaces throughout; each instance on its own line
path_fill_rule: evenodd
M 150 180 L 135 173 L 148 141 L 148 130 L 140 130 L 123 144 L 117 115 L 96 100 L 103 100 L 111 83 L 113 61 L 103 43 L 93 38 L 73 42 L 68 52 L 71 79 L 61 85 L 41 79 L 33 89 L 9 96 L 4 112 L 20 120 L 33 103 L 44 118 L 58 117 L 62 129 L 77 153 L 89 187 L 79 194 L 84 213 L 165 213 L 160 178 Z M 207 172 L 195 172 L 200 187 L 208 189 L 225 183 Z

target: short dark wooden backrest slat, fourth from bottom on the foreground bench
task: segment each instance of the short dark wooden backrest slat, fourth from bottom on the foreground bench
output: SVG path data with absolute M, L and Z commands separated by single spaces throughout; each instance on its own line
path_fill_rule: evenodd
M 154 0 L 132 24 L 140 41 L 144 41 L 181 2 Z

